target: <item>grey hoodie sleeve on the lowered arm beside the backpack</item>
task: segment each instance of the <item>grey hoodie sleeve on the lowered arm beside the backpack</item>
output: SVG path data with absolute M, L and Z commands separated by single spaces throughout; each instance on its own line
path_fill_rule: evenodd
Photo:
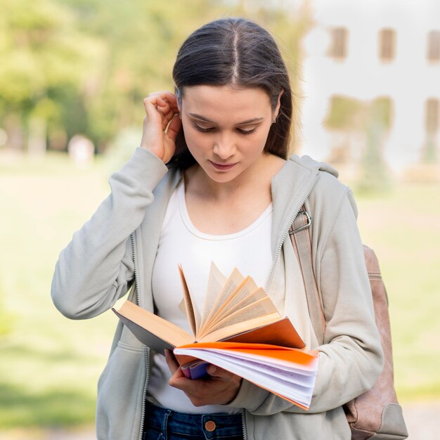
M 337 209 L 330 209 L 328 203 L 334 204 L 335 200 L 312 209 L 315 219 L 327 215 L 321 228 L 318 225 L 321 233 L 313 240 L 327 328 L 324 344 L 318 347 L 318 375 L 309 413 L 337 408 L 368 391 L 380 375 L 383 363 L 351 193 L 345 191 Z M 318 212 L 320 209 L 323 212 Z M 258 415 L 306 412 L 247 381 L 242 382 L 231 405 Z

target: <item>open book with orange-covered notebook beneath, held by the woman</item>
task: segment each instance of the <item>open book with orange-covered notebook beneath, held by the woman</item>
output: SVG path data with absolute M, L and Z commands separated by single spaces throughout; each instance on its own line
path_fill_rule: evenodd
M 212 264 L 199 316 L 180 266 L 179 273 L 193 335 L 130 301 L 112 310 L 143 344 L 160 353 L 174 351 L 186 377 L 202 377 L 213 363 L 308 408 L 318 354 L 304 350 L 294 326 L 264 289 L 237 269 L 226 278 Z

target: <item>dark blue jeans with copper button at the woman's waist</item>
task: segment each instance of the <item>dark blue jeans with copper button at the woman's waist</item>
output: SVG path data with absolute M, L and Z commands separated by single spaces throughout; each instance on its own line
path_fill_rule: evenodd
M 243 440 L 241 414 L 185 414 L 146 403 L 143 440 Z

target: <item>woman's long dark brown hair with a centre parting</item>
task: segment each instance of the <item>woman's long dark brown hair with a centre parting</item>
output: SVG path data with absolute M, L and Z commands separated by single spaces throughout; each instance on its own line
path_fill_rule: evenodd
M 275 110 L 280 110 L 268 133 L 264 150 L 287 157 L 292 119 L 292 91 L 278 46 L 264 28 L 244 18 L 209 22 L 190 34 L 177 53 L 173 79 L 178 99 L 185 88 L 196 85 L 263 89 Z M 176 138 L 176 153 L 169 167 L 186 169 L 195 163 L 183 129 Z

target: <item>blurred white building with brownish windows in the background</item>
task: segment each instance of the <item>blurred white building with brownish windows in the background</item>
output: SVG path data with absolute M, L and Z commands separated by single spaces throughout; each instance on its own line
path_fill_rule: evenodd
M 341 136 L 325 127 L 334 97 L 388 98 L 392 118 L 382 144 L 400 174 L 440 157 L 440 1 L 312 0 L 313 27 L 304 38 L 302 153 L 335 155 Z M 351 134 L 357 162 L 365 136 Z M 347 152 L 346 152 L 347 153 Z

